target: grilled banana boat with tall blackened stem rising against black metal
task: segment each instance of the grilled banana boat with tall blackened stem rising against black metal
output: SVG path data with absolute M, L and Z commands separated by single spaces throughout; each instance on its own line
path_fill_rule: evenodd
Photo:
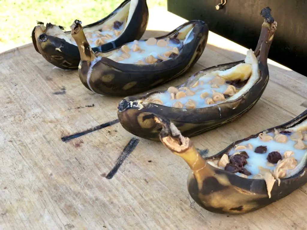
M 124 98 L 118 118 L 128 132 L 159 140 L 161 127 L 153 115 L 170 119 L 184 136 L 192 137 L 234 121 L 262 96 L 269 80 L 267 58 L 277 22 L 264 8 L 261 34 L 255 52 L 245 60 L 213 66 L 192 75 L 184 84 L 141 96 Z

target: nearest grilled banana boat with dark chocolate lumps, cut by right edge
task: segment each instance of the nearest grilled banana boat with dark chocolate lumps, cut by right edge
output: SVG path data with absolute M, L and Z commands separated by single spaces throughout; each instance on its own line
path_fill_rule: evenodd
M 307 110 L 296 118 L 202 158 L 188 137 L 168 119 L 161 142 L 191 168 L 188 192 L 213 213 L 243 214 L 286 197 L 307 182 Z

